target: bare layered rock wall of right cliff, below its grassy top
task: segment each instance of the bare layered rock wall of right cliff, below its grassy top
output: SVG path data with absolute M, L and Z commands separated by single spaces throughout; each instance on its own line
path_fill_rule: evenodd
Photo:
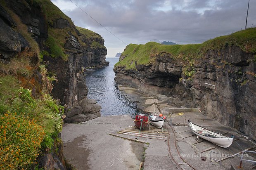
M 170 52 L 154 55 L 150 64 L 138 64 L 135 61 L 135 69 L 116 64 L 115 80 L 142 91 L 150 85 L 153 88 L 146 88 L 145 92 L 154 91 L 167 96 L 182 94 L 176 90 L 182 85 L 203 114 L 256 140 L 254 52 L 227 45 L 220 50 L 207 50 L 193 62 L 182 57 L 175 58 Z M 121 56 L 120 59 L 126 57 L 129 55 Z

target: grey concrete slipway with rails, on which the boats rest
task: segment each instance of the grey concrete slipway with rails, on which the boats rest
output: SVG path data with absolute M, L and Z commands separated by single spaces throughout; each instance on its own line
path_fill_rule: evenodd
M 128 115 L 99 117 L 80 124 L 64 124 L 61 134 L 64 157 L 78 170 L 138 170 L 144 157 L 144 170 L 229 170 L 231 165 L 238 167 L 239 157 L 226 158 L 219 165 L 219 162 L 210 161 L 211 151 L 227 155 L 238 153 L 243 149 L 255 151 L 254 142 L 249 141 L 236 130 L 201 115 L 196 109 L 173 109 L 164 102 L 166 101 L 164 96 L 146 96 L 128 87 L 123 91 L 130 100 L 136 101 L 142 110 L 157 112 L 157 106 L 158 110 L 167 116 L 165 128 L 168 130 L 168 139 L 165 141 L 117 134 L 120 130 L 134 125 L 133 119 Z M 185 125 L 184 118 L 186 118 Z M 203 139 L 196 141 L 196 136 L 187 126 L 188 119 L 210 130 L 225 133 L 227 136 L 232 134 L 237 140 L 227 149 L 216 147 Z M 130 139 L 137 138 L 150 144 L 133 142 L 109 134 Z M 201 156 L 206 157 L 206 161 L 202 161 Z M 220 159 L 218 154 L 213 157 Z M 246 159 L 255 161 L 256 155 L 247 155 Z M 242 162 L 243 169 L 253 166 L 249 162 Z

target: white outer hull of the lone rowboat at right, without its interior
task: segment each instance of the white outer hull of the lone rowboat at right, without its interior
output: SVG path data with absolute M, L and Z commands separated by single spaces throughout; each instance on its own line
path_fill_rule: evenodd
M 232 144 L 232 142 L 233 142 L 233 138 L 229 138 L 229 137 L 209 137 L 208 135 L 207 135 L 207 132 L 205 132 L 205 134 L 206 135 L 202 135 L 202 134 L 200 134 L 199 132 L 196 132 L 196 131 L 194 131 L 194 129 L 193 129 L 193 127 L 192 127 L 192 125 L 191 125 L 191 122 L 189 122 L 189 124 L 190 124 L 190 129 L 192 130 L 192 132 L 195 134 L 195 135 L 197 135 L 198 137 L 201 137 L 202 139 L 205 139 L 205 140 L 208 140 L 209 142 L 212 142 L 213 144 L 216 144 L 216 145 L 218 145 L 218 146 L 220 146 L 220 147 L 223 147 L 223 148 L 227 148 L 227 147 L 229 147 L 231 144 Z M 195 124 L 193 124 L 193 125 L 195 125 Z M 196 125 L 197 127 L 201 127 L 201 126 L 198 126 L 198 125 Z M 204 130 L 204 128 L 203 127 L 201 127 L 202 128 L 202 130 Z M 206 129 L 207 130 L 207 129 Z M 207 131 L 210 131 L 210 130 L 207 130 Z M 216 135 L 218 135 L 218 136 L 222 136 L 222 135 L 220 135 L 220 134 L 217 134 L 216 132 L 212 132 L 212 131 L 210 131 L 212 134 L 216 134 Z

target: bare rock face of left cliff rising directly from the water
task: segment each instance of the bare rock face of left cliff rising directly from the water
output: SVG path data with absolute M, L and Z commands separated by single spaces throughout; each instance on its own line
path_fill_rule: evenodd
M 79 33 L 79 32 L 78 32 Z M 83 47 L 78 38 L 69 33 L 64 47 L 69 50 L 68 61 L 56 60 L 51 57 L 44 57 L 49 61 L 48 69 L 54 71 L 59 82 L 55 83 L 52 94 L 59 98 L 63 105 L 66 105 L 66 123 L 79 123 L 101 116 L 101 106 L 93 99 L 87 99 L 88 88 L 86 87 L 83 68 L 107 66 L 105 55 L 106 48 L 91 49 Z M 83 42 L 87 41 L 83 34 L 78 34 Z M 104 45 L 104 40 L 97 40 Z M 60 69 L 66 68 L 66 69 Z

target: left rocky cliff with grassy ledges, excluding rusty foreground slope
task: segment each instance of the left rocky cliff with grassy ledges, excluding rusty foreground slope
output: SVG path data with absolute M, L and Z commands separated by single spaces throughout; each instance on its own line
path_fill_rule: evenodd
M 1 58 L 10 60 L 26 47 L 37 50 L 48 71 L 59 80 L 55 81 L 52 94 L 69 111 L 66 122 L 81 122 L 100 116 L 100 105 L 87 99 L 83 68 L 108 66 L 102 37 L 74 26 L 50 0 L 9 0 L 2 4 L 11 15 L 1 6 Z M 20 23 L 13 21 L 11 16 Z M 36 42 L 30 40 L 29 43 L 24 32 Z

